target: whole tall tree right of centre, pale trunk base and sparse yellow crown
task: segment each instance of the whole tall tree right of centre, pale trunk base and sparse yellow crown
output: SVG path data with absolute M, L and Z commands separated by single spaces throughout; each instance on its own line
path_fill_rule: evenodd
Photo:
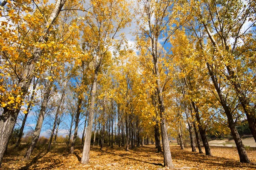
M 156 79 L 156 92 L 157 92 L 157 105 L 159 105 L 160 109 L 160 127 L 161 127 L 161 135 L 163 142 L 163 155 L 164 155 L 164 165 L 167 167 L 173 168 L 172 164 L 172 156 L 170 153 L 169 140 L 167 136 L 166 129 L 166 116 L 165 116 L 165 106 L 164 106 L 164 95 L 163 90 L 165 84 L 169 81 L 169 75 L 166 76 L 166 79 L 160 79 L 160 69 L 159 68 L 159 59 L 162 55 L 163 48 L 158 48 L 158 40 L 164 31 L 166 30 L 170 20 L 172 19 L 172 2 L 170 0 L 164 1 L 151 1 L 151 0 L 142 0 L 139 1 L 142 5 L 142 9 L 140 9 L 140 16 L 143 21 L 142 26 L 140 27 L 140 31 L 142 36 L 139 37 L 138 44 L 146 48 L 147 50 L 141 51 L 142 54 L 146 55 L 147 52 L 152 57 L 152 62 L 154 64 L 153 75 Z M 145 26 L 148 26 L 146 28 Z M 171 35 L 168 34 L 165 41 L 169 39 Z M 145 43 L 143 41 L 149 41 L 149 46 L 144 46 Z M 161 82 L 161 80 L 163 82 Z

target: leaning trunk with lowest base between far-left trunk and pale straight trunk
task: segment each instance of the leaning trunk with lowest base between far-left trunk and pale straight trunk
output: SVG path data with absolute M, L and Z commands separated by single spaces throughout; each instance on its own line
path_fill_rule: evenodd
M 35 148 L 35 145 L 38 142 L 38 139 L 39 139 L 39 136 L 40 136 L 40 133 L 41 133 L 41 128 L 42 128 L 43 121 L 44 121 L 44 114 L 45 114 L 45 111 L 46 111 L 46 108 L 47 108 L 47 103 L 48 103 L 48 99 L 49 99 L 50 92 L 51 92 L 51 88 L 52 88 L 52 81 L 48 81 L 46 91 L 44 93 L 44 100 L 43 100 L 43 103 L 41 105 L 41 110 L 40 110 L 40 113 L 38 115 L 38 120 L 37 120 L 37 123 L 36 123 L 36 126 L 35 126 L 35 131 L 34 131 L 34 134 L 32 136 L 32 143 L 30 144 L 28 150 L 26 151 L 26 154 L 24 155 L 23 160 L 29 160 L 30 159 L 30 156 L 31 156 L 31 154 L 32 154 L 32 152 Z

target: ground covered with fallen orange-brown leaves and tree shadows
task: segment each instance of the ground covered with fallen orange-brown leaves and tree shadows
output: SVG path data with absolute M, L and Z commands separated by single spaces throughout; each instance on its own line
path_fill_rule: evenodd
M 177 169 L 191 170 L 255 170 L 256 148 L 247 148 L 252 164 L 239 163 L 239 155 L 236 147 L 212 146 L 212 155 L 192 153 L 190 147 L 180 150 L 177 145 L 170 145 L 172 160 Z M 157 153 L 154 145 L 137 147 L 125 151 L 124 147 L 105 147 L 103 151 L 99 147 L 92 147 L 90 152 L 90 164 L 80 164 L 82 150 L 75 149 L 75 154 L 69 154 L 66 145 L 56 145 L 52 151 L 34 150 L 30 161 L 21 161 L 26 147 L 15 150 L 10 147 L 4 156 L 1 170 L 164 170 L 163 154 Z

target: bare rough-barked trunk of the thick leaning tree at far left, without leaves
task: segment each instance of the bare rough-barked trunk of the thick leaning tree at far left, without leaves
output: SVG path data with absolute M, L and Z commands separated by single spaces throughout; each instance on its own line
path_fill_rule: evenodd
M 43 34 L 38 39 L 39 43 L 44 43 L 48 41 L 47 35 L 49 34 L 49 30 L 55 22 L 56 18 L 58 17 L 58 14 L 61 11 L 61 8 L 64 6 L 65 2 L 66 0 L 56 1 L 55 8 L 53 9 L 49 17 L 49 20 L 47 21 L 44 27 Z M 35 63 L 41 57 L 42 51 L 43 49 L 41 49 L 40 47 L 33 48 L 32 57 L 29 60 L 28 64 L 25 66 L 25 69 L 20 76 L 19 82 L 17 83 L 17 87 L 21 88 L 21 91 L 23 92 L 23 99 L 28 92 L 29 85 L 31 84 L 32 78 L 34 76 Z M 14 96 L 16 97 L 17 95 L 14 94 Z M 13 110 L 8 110 L 8 107 L 9 105 L 3 108 L 3 114 L 0 116 L 0 165 L 3 159 L 3 153 L 6 149 L 9 136 L 12 133 L 12 129 L 15 126 L 18 113 L 20 112 L 21 105 L 17 109 Z

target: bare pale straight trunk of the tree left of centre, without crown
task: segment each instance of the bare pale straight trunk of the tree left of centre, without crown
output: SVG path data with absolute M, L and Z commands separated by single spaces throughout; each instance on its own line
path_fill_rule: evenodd
M 94 78 L 93 78 L 93 87 L 92 87 L 92 90 L 91 90 L 91 99 L 90 99 L 87 133 L 85 134 L 84 149 L 83 149 L 83 153 L 82 153 L 82 157 L 81 157 L 81 163 L 82 164 L 89 163 L 90 139 L 91 139 L 91 136 L 92 136 L 91 132 L 92 132 L 92 128 L 93 128 L 93 115 L 94 115 L 95 94 L 96 94 L 96 90 L 97 90 L 98 70 L 99 70 L 99 67 L 97 67 L 95 69 Z

